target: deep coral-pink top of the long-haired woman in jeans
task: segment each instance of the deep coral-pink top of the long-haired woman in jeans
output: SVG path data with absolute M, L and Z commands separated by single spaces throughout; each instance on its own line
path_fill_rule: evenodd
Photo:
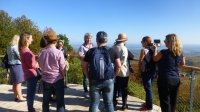
M 27 80 L 31 77 L 37 76 L 35 71 L 36 61 L 35 55 L 29 48 L 22 48 L 20 50 L 20 58 L 22 63 L 22 69 L 24 71 L 24 79 Z

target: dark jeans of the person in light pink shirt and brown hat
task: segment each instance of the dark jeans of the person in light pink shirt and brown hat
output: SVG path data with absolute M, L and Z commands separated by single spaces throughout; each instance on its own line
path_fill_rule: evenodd
M 42 111 L 49 112 L 49 102 L 51 99 L 51 94 L 53 91 L 55 91 L 57 112 L 64 112 L 65 111 L 64 79 L 60 79 L 53 84 L 43 81 L 43 88 L 44 88 L 44 90 L 43 90 Z

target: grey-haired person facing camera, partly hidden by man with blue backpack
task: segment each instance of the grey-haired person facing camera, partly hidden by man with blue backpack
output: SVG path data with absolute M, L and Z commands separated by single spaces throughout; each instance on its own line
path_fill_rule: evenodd
M 93 48 L 92 34 L 86 33 L 84 35 L 84 43 L 80 46 L 80 48 L 78 50 L 78 55 L 79 55 L 80 60 L 81 60 L 82 68 L 83 68 L 83 61 L 84 61 L 84 58 L 85 58 L 85 54 L 91 48 Z M 86 76 L 85 76 L 84 73 L 83 73 L 83 89 L 84 89 L 84 92 L 85 92 L 85 94 L 84 94 L 85 98 L 89 98 L 88 89 L 87 89 L 87 79 L 86 79 Z

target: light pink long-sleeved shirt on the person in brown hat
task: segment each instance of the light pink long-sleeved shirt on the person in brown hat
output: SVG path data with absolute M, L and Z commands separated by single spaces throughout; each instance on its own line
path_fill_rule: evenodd
M 39 65 L 43 71 L 42 80 L 47 83 L 55 83 L 63 78 L 62 71 L 65 69 L 63 52 L 55 46 L 45 47 L 38 54 Z

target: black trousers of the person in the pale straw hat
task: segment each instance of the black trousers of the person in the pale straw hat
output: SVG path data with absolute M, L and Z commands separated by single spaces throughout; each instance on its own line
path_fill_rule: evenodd
M 119 77 L 115 78 L 115 85 L 114 85 L 114 95 L 113 95 L 113 102 L 116 102 L 117 92 L 120 91 L 122 93 L 122 105 L 127 104 L 127 96 L 128 96 L 128 80 L 129 77 Z

